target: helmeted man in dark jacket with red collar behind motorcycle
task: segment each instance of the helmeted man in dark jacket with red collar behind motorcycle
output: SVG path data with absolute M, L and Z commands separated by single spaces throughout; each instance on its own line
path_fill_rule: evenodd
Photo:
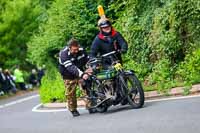
M 109 19 L 102 17 L 98 21 L 99 34 L 95 37 L 91 46 L 91 57 L 96 57 L 98 54 L 103 55 L 112 51 L 121 51 L 126 53 L 128 44 L 123 36 L 117 32 Z M 121 55 L 117 55 L 122 61 Z

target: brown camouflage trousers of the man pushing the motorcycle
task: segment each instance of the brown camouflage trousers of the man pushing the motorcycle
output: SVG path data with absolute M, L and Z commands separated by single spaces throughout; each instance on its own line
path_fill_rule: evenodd
M 82 84 L 80 82 L 79 79 L 75 79 L 75 80 L 64 80 L 65 83 L 65 96 L 67 99 L 67 105 L 68 105 L 68 109 L 69 111 L 74 111 L 77 109 L 77 97 L 76 97 L 76 87 L 77 85 L 80 86 L 80 88 L 82 88 Z M 83 90 L 83 96 L 87 96 L 86 90 Z M 85 106 L 86 109 L 88 109 L 91 106 L 91 102 L 88 99 L 84 99 L 85 101 Z

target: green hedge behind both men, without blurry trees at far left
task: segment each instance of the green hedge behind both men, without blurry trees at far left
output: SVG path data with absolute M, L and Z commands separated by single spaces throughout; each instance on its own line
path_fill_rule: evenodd
M 39 65 L 45 63 L 47 69 L 55 70 L 44 81 L 43 102 L 54 98 L 64 100 L 61 79 L 51 80 L 59 75 L 55 56 L 71 37 L 89 48 L 98 32 L 99 3 L 104 4 L 106 15 L 112 17 L 114 27 L 129 44 L 125 66 L 137 72 L 147 90 L 155 87 L 167 91 L 181 82 L 200 81 L 199 1 L 55 0 L 48 10 L 48 20 L 40 24 L 39 32 L 28 43 L 29 60 Z M 53 95 L 53 90 L 58 95 Z

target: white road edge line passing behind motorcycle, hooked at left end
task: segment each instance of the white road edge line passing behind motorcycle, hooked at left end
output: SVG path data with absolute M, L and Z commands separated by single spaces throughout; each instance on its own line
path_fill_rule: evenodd
M 180 99 L 188 99 L 188 98 L 195 98 L 200 97 L 200 95 L 193 95 L 193 96 L 180 96 L 180 97 L 171 97 L 171 98 L 162 98 L 162 99 L 155 99 L 155 100 L 147 100 L 145 103 L 152 103 L 152 102 L 159 102 L 159 101 L 170 101 L 170 100 L 180 100 Z M 39 109 L 42 104 L 36 105 L 32 111 L 33 112 L 40 112 L 40 113 L 49 113 L 49 112 L 63 112 L 67 111 L 67 109 Z M 78 110 L 85 110 L 84 107 L 78 108 Z

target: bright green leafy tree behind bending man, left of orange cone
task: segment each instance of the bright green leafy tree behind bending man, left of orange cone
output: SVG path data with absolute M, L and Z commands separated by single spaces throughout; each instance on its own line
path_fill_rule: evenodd
M 39 33 L 28 43 L 29 58 L 33 63 L 43 64 L 53 59 L 71 37 L 77 38 L 82 46 L 91 44 L 96 22 L 83 0 L 57 0 L 48 16 L 47 22 L 40 25 Z

